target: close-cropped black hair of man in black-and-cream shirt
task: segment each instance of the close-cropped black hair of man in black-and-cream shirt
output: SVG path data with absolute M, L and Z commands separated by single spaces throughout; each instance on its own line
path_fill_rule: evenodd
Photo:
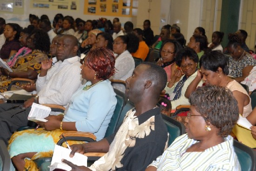
M 148 69 L 144 72 L 144 78 L 147 78 L 152 81 L 152 85 L 154 86 L 154 90 L 158 95 L 165 88 L 167 83 L 167 74 L 165 70 L 158 66 L 155 63 L 151 62 L 143 62 L 141 64 L 148 65 Z

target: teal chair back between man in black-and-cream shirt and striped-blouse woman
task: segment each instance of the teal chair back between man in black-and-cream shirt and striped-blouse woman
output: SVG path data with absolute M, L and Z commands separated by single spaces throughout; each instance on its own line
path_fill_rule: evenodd
M 185 126 L 181 122 L 165 114 L 162 114 L 162 118 L 168 129 L 168 133 L 169 133 L 168 146 L 170 146 L 177 137 L 185 133 Z

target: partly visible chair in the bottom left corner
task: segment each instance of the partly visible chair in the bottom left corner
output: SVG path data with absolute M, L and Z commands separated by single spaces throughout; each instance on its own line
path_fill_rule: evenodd
M 2 171 L 9 171 L 11 167 L 11 157 L 2 139 L 0 139 L 0 156 L 2 160 Z

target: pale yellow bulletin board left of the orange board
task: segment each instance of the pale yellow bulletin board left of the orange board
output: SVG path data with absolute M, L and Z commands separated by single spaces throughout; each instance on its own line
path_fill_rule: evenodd
M 76 11 L 78 6 L 78 0 L 30 0 L 31 8 Z

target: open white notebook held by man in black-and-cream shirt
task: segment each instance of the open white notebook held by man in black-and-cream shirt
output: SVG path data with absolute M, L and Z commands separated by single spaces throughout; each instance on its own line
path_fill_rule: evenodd
M 63 158 L 72 162 L 74 165 L 87 166 L 87 156 L 76 152 L 74 154 L 74 157 L 70 158 L 69 157 L 70 152 L 71 150 L 69 150 L 68 148 L 55 145 L 52 162 L 51 162 L 51 165 L 48 166 L 50 168 L 50 171 L 53 171 L 56 168 L 63 169 L 66 171 L 71 171 L 71 167 L 69 165 L 66 165 L 61 162 Z

